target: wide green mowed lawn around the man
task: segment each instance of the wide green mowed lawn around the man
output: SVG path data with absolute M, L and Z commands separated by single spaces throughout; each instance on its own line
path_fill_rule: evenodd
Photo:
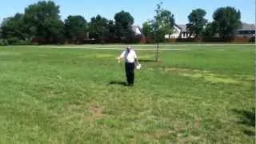
M 134 87 L 125 46 L 50 47 L 0 47 L 0 143 L 255 143 L 253 45 L 137 50 Z

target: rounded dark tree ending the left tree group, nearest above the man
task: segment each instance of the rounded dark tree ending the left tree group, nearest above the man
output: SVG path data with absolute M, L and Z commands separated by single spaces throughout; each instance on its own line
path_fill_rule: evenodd
M 114 15 L 116 34 L 119 38 L 126 38 L 132 30 L 134 18 L 124 10 Z

